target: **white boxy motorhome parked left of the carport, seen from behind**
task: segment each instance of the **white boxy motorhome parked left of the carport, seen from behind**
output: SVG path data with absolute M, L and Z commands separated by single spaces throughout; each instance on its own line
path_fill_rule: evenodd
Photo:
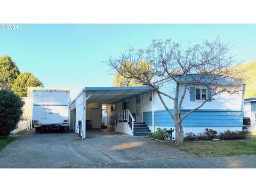
M 30 126 L 36 132 L 58 129 L 69 125 L 70 90 L 50 87 L 28 87 Z

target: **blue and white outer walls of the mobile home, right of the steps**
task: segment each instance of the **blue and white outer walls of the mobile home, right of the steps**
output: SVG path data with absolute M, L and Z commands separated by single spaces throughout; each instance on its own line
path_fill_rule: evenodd
M 183 85 L 179 85 L 179 99 L 183 92 L 183 88 Z M 169 94 L 174 93 L 175 83 L 169 82 L 163 84 L 161 91 Z M 156 131 L 158 127 L 161 129 L 174 129 L 172 118 L 164 109 L 158 95 L 154 93 L 154 99 L 149 101 L 148 98 L 150 95 L 151 93 L 143 94 L 143 100 L 147 101 L 144 102 L 143 108 L 144 122 L 149 126 L 151 131 Z M 225 93 L 214 97 L 210 102 L 206 102 L 202 108 L 190 114 L 183 120 L 182 125 L 184 133 L 203 133 L 206 128 L 214 129 L 218 132 L 226 130 L 242 131 L 242 96 L 242 92 L 239 94 Z M 163 99 L 166 102 L 167 107 L 169 107 L 173 113 L 173 101 L 166 97 L 163 97 Z M 201 102 L 202 101 L 191 101 L 190 91 L 187 91 L 182 102 L 182 113 L 188 113 L 191 109 L 199 106 Z M 154 114 L 152 113 L 153 110 Z

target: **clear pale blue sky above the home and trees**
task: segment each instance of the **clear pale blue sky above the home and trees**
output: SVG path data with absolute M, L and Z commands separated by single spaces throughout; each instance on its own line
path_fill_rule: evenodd
M 8 54 L 20 71 L 30 71 L 44 86 L 72 89 L 111 86 L 113 75 L 102 61 L 129 48 L 146 48 L 152 39 L 171 38 L 187 47 L 218 35 L 233 45 L 237 60 L 256 60 L 256 25 L 19 25 L 0 29 L 0 55 Z

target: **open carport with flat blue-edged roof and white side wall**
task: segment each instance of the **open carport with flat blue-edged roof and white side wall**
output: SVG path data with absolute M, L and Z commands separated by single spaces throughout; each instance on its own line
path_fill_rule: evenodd
M 139 111 L 138 113 L 140 114 L 141 118 L 138 119 L 140 119 L 139 121 L 143 121 L 143 97 L 141 97 L 141 95 L 150 91 L 152 91 L 152 89 L 148 86 L 85 87 L 70 103 L 70 129 L 76 133 L 79 133 L 80 128 L 80 135 L 83 139 L 85 139 L 86 121 L 88 121 L 88 119 L 91 118 L 94 122 L 93 124 L 96 124 L 97 122 L 99 122 L 99 124 L 102 123 L 101 115 L 103 104 L 108 105 L 109 108 L 111 108 L 111 116 L 108 114 L 108 119 L 111 118 L 111 122 L 114 122 L 115 127 L 116 123 L 119 124 L 119 132 L 129 134 L 127 131 L 125 131 L 125 129 L 127 129 L 127 126 L 131 126 L 132 129 L 133 123 L 135 122 L 134 115 L 132 115 L 131 111 L 129 110 L 129 107 L 131 108 L 132 106 L 131 98 L 138 97 L 140 99 L 140 110 L 137 111 Z

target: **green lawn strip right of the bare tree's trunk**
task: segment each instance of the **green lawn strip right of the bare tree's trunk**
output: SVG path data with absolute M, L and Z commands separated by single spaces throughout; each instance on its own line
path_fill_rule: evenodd
M 255 136 L 255 135 L 253 135 Z M 256 155 L 256 141 L 217 141 L 184 143 L 175 148 L 195 154 L 198 157 L 220 157 L 231 155 Z

